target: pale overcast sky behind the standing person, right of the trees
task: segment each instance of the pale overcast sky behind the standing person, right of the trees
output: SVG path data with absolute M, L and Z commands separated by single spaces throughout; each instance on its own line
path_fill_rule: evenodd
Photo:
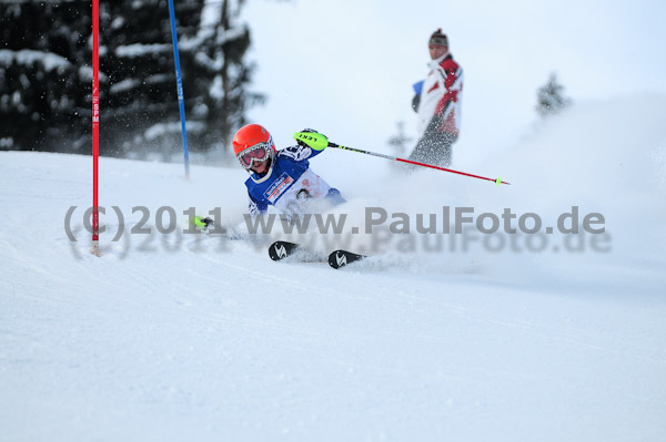
M 250 116 L 279 146 L 310 126 L 390 152 L 397 121 L 415 136 L 412 83 L 427 73 L 436 28 L 465 72 L 458 153 L 487 153 L 525 133 L 553 71 L 578 102 L 666 95 L 666 2 L 613 3 L 250 0 L 242 18 L 259 66 L 253 89 L 269 96 Z

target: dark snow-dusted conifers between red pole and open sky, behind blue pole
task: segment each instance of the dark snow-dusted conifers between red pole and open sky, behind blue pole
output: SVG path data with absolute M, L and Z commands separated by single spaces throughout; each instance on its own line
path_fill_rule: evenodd
M 180 0 L 175 3 L 190 151 L 231 145 L 259 94 L 248 92 L 252 66 L 245 64 L 250 30 L 239 23 L 240 0 Z M 109 103 L 117 133 L 131 136 L 112 145 L 144 146 L 164 155 L 182 150 L 169 11 L 164 0 L 109 4 L 109 48 L 101 60 L 110 75 Z M 103 100 L 103 99 L 102 99 Z

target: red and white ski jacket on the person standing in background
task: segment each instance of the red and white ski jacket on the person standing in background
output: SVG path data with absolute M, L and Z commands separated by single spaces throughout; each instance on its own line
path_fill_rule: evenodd
M 437 131 L 453 133 L 461 130 L 463 69 L 450 53 L 428 63 L 431 71 L 423 82 L 417 109 L 418 135 L 423 136 L 433 116 L 438 115 Z

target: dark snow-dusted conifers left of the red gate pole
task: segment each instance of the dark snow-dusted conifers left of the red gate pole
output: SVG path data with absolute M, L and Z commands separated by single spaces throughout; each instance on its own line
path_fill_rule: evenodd
M 87 2 L 0 2 L 0 140 L 6 148 L 90 151 Z

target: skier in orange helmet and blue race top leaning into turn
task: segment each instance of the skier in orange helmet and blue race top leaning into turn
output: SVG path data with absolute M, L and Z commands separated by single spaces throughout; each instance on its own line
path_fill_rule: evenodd
M 309 160 L 326 145 L 325 136 L 303 130 L 295 146 L 276 151 L 265 127 L 241 127 L 233 137 L 233 152 L 250 174 L 245 181 L 250 214 L 263 214 L 274 206 L 291 217 L 344 203 L 340 192 L 310 168 Z

